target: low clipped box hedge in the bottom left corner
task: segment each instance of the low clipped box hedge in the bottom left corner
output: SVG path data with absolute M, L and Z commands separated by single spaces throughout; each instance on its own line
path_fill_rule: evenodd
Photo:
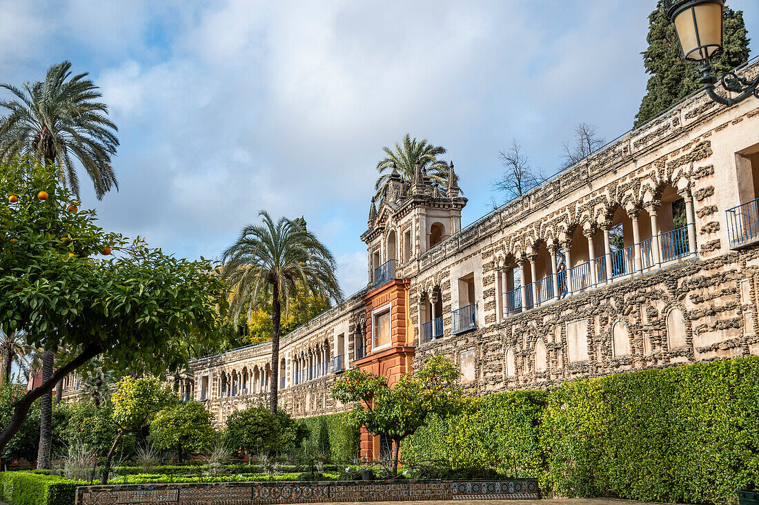
M 2 500 L 10 505 L 71 505 L 76 481 L 32 472 L 0 472 Z

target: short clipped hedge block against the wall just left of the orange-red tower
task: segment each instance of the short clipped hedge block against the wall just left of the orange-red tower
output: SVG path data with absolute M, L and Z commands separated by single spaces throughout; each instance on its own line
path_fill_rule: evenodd
M 301 419 L 308 428 L 304 441 L 307 456 L 324 454 L 332 461 L 351 462 L 358 455 L 361 435 L 346 422 L 347 414 L 329 414 Z

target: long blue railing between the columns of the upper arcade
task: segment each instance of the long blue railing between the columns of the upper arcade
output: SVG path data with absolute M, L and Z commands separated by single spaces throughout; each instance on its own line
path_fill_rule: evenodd
M 756 205 L 754 207 L 755 212 Z M 754 229 L 753 233 L 755 236 L 752 240 L 759 242 L 759 228 Z M 564 296 L 584 293 L 619 278 L 656 271 L 666 263 L 694 255 L 695 249 L 691 247 L 689 240 L 688 225 L 686 225 L 650 237 L 640 243 L 613 250 L 609 255 L 599 256 L 566 271 L 547 275 L 524 287 L 515 287 L 511 291 L 502 293 L 503 316 L 508 317 L 532 309 L 534 306 L 553 303 Z

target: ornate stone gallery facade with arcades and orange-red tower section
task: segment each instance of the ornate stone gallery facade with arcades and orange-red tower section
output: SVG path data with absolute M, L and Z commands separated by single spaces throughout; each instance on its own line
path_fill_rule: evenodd
M 361 237 L 367 288 L 282 339 L 281 406 L 339 412 L 343 369 L 394 380 L 434 353 L 474 394 L 757 354 L 757 197 L 759 100 L 704 93 L 463 230 L 458 187 L 394 174 Z M 182 391 L 222 423 L 266 396 L 268 360 L 196 360 Z

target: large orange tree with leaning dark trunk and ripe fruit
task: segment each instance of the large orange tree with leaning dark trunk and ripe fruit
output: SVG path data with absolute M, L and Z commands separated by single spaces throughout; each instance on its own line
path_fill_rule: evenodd
M 0 449 L 34 400 L 94 356 L 115 372 L 162 375 L 187 362 L 184 335 L 220 338 L 225 300 L 216 265 L 167 256 L 139 237 L 128 244 L 77 205 L 39 165 L 0 166 L 0 329 L 67 350 L 52 376 L 16 401 Z

